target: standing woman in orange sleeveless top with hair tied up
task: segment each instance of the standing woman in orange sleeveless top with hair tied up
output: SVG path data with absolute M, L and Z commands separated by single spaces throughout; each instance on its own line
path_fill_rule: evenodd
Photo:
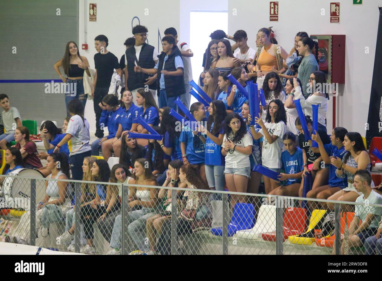
M 262 28 L 257 32 L 259 36 L 259 43 L 262 45 L 262 49 L 259 58 L 256 62 L 256 74 L 257 74 L 257 87 L 260 89 L 264 82 L 265 75 L 272 72 L 273 69 L 281 69 L 283 67 L 282 60 L 286 60 L 288 53 L 278 45 L 270 42 L 269 29 Z M 280 52 L 279 62 L 277 62 L 277 53 Z

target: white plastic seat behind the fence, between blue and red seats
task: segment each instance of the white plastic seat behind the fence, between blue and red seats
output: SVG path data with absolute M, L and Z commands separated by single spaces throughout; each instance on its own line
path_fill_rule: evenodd
M 276 206 L 262 205 L 252 229 L 236 232 L 237 238 L 257 239 L 264 232 L 276 231 Z

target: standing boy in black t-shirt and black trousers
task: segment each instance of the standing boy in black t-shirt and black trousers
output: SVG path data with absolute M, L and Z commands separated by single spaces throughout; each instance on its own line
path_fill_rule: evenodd
M 99 107 L 99 103 L 109 91 L 110 81 L 112 80 L 114 69 L 117 71 L 119 76 L 122 76 L 118 58 L 106 49 L 108 44 L 108 39 L 105 35 L 99 35 L 94 38 L 94 47 L 98 53 L 94 55 L 95 76 L 92 96 L 94 98 L 96 127 L 95 136 L 97 138 L 104 137 L 104 130 L 101 129 L 99 124 L 99 118 L 101 117 L 102 113 L 102 109 Z

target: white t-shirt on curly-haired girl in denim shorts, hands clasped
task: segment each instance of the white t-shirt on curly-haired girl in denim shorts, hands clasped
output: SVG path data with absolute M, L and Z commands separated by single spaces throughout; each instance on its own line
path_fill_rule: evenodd
M 228 137 L 226 134 L 224 134 L 223 142 L 232 140 L 232 138 L 233 138 L 232 132 L 230 133 Z M 253 145 L 252 136 L 248 132 L 246 132 L 246 134 L 243 136 L 241 140 L 239 140 L 238 142 L 233 142 L 233 143 L 235 143 L 235 145 L 239 147 L 252 146 Z M 225 156 L 226 168 L 246 168 L 250 166 L 251 166 L 251 163 L 249 162 L 249 155 L 241 153 L 237 151 L 236 149 L 235 151 L 230 149 L 227 152 L 227 155 Z

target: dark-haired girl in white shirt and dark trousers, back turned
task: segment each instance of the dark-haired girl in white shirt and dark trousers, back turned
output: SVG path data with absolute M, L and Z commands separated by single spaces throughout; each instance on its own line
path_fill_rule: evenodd
M 84 117 L 84 105 L 79 100 L 73 99 L 69 102 L 68 109 L 71 118 L 66 129 L 66 135 L 57 144 L 54 152 L 60 151 L 60 147 L 68 143 L 72 178 L 81 180 L 83 176 L 81 167 L 84 158 L 91 156 L 89 122 Z

